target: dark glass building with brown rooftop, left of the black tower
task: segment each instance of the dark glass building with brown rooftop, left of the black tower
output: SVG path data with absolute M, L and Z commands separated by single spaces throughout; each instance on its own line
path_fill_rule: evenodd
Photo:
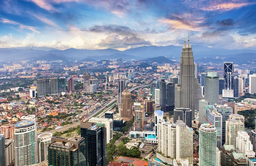
M 49 166 L 88 166 L 84 138 L 52 137 L 48 149 Z

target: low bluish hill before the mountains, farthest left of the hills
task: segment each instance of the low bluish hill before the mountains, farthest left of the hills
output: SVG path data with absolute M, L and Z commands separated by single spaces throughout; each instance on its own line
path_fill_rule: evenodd
M 30 60 L 30 62 L 36 62 L 36 61 L 40 61 L 40 60 L 44 60 L 44 61 L 48 61 L 48 62 L 62 60 L 63 62 L 67 62 L 68 60 L 74 60 L 74 59 L 67 58 L 66 56 L 62 56 L 62 55 L 56 55 L 56 54 L 49 53 L 49 54 L 35 56 Z

